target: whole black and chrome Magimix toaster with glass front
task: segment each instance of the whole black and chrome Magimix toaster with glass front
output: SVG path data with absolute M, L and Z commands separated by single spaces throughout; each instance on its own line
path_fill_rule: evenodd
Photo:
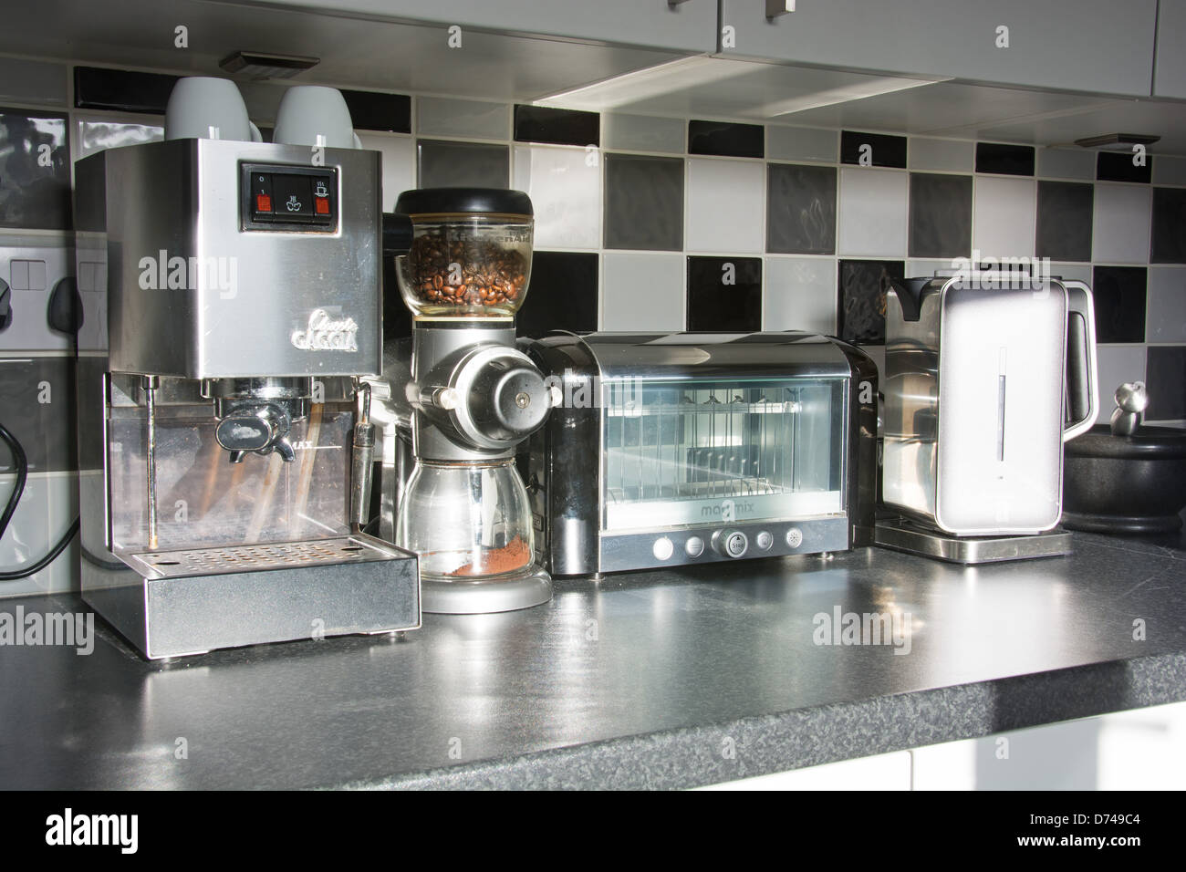
M 562 392 L 521 464 L 555 575 L 873 542 L 876 368 L 810 333 L 525 344 Z

